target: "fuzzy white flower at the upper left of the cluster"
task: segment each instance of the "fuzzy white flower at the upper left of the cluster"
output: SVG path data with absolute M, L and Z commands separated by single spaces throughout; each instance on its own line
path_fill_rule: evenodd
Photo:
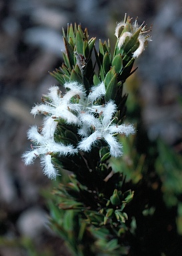
M 65 93 L 64 96 L 61 95 L 59 87 L 53 86 L 49 89 L 48 97 L 50 102 L 45 101 L 45 103 L 40 105 L 35 105 L 31 110 L 33 115 L 39 113 L 44 113 L 49 115 L 52 119 L 65 119 L 67 123 L 79 124 L 79 119 L 73 111 L 77 111 L 77 104 L 71 103 L 73 97 L 82 97 L 85 94 L 82 85 L 78 83 L 65 83 L 65 88 L 70 89 Z

